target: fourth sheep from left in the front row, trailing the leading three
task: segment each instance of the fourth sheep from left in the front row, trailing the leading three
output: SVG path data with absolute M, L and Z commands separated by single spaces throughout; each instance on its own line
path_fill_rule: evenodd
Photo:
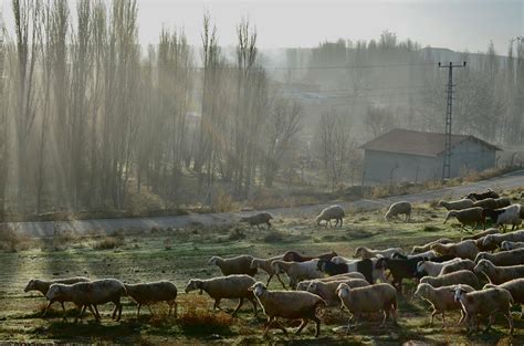
M 253 292 L 249 290 L 255 283 L 254 279 L 249 275 L 229 275 L 212 279 L 191 279 L 186 286 L 186 293 L 200 290 L 199 294 L 205 291 L 214 300 L 213 311 L 220 308 L 222 298 L 239 300 L 239 305 L 233 311 L 233 316 L 242 307 L 244 298 L 253 304 L 253 312 L 256 316 L 256 302 Z

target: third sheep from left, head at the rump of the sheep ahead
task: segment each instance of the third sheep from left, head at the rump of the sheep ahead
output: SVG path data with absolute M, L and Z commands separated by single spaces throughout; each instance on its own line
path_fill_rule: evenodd
M 153 315 L 150 304 L 166 302 L 169 305 L 168 316 L 171 315 L 175 306 L 175 316 L 177 315 L 177 287 L 169 281 L 158 281 L 137 284 L 124 284 L 127 294 L 137 303 L 136 317 L 140 316 L 142 305 L 147 305 Z

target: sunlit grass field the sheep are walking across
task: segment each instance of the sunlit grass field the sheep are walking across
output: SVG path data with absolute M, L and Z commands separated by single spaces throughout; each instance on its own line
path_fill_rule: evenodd
M 412 298 L 413 284 L 408 281 L 408 294 L 399 298 L 399 325 L 378 328 L 379 322 L 366 322 L 349 334 L 337 333 L 336 327 L 346 324 L 348 315 L 339 311 L 326 313 L 319 338 L 314 338 L 313 324 L 300 336 L 290 333 L 285 337 L 280 331 L 262 334 L 264 315 L 253 317 L 251 304 L 247 303 L 237 317 L 227 313 L 212 313 L 211 300 L 197 292 L 185 294 L 184 289 L 191 277 L 219 275 L 216 266 L 207 264 L 211 255 L 249 253 L 271 256 L 286 250 L 319 253 L 335 250 L 350 256 L 359 245 L 373 248 L 401 247 L 408 251 L 415 244 L 449 237 L 459 239 L 463 233 L 453 224 L 442 224 L 444 212 L 430 205 L 416 206 L 409 223 L 384 222 L 384 211 L 348 212 L 345 226 L 324 229 L 307 219 L 276 220 L 273 230 L 233 228 L 193 228 L 184 230 L 151 230 L 125 232 L 113 237 L 92 234 L 60 234 L 50 240 L 17 240 L 22 250 L 0 253 L 0 340 L 34 343 L 140 343 L 140 344 L 262 344 L 290 343 L 305 345 L 326 344 L 376 344 L 398 345 L 412 342 L 474 344 L 474 345 L 523 345 L 524 322 L 514 315 L 515 333 L 507 335 L 505 319 L 497 318 L 493 331 L 471 336 L 454 324 L 459 314 L 448 317 L 450 325 L 441 329 L 440 319 L 429 326 L 428 304 Z M 32 277 L 63 277 L 85 275 L 90 277 L 117 277 L 125 282 L 170 280 L 179 290 L 178 317 L 167 316 L 167 305 L 153 306 L 154 316 L 143 308 L 136 318 L 136 307 L 124 298 L 120 322 L 109 317 L 112 304 L 101 306 L 103 319 L 96 323 L 91 314 L 82 322 L 73 323 L 75 311 L 67 305 L 69 319 L 62 321 L 60 304 L 52 314 L 41 318 L 45 298 L 40 293 L 24 293 L 23 287 Z M 264 273 L 256 275 L 266 280 Z M 271 287 L 277 289 L 274 281 Z M 235 302 L 222 303 L 231 311 Z M 296 327 L 297 322 L 286 322 Z M 291 332 L 291 331 L 290 331 Z

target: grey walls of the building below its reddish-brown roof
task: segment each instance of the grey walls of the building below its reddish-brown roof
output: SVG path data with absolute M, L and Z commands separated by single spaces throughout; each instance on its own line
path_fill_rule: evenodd
M 451 177 L 482 171 L 495 166 L 496 151 L 474 140 L 464 140 L 452 149 Z M 365 150 L 364 184 L 420 182 L 442 177 L 442 155 L 437 157 Z

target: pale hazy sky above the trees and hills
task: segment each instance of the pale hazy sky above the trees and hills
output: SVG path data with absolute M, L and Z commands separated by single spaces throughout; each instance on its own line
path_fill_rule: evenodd
M 12 21 L 9 0 L 4 20 Z M 76 0 L 69 0 L 72 7 Z M 242 18 L 256 27 L 259 46 L 311 48 L 339 38 L 377 39 L 384 30 L 423 46 L 485 51 L 493 41 L 505 55 L 510 40 L 524 35 L 524 0 L 137 0 L 140 43 L 158 42 L 166 25 L 184 28 L 200 44 L 203 12 L 217 24 L 219 43 L 235 44 Z

